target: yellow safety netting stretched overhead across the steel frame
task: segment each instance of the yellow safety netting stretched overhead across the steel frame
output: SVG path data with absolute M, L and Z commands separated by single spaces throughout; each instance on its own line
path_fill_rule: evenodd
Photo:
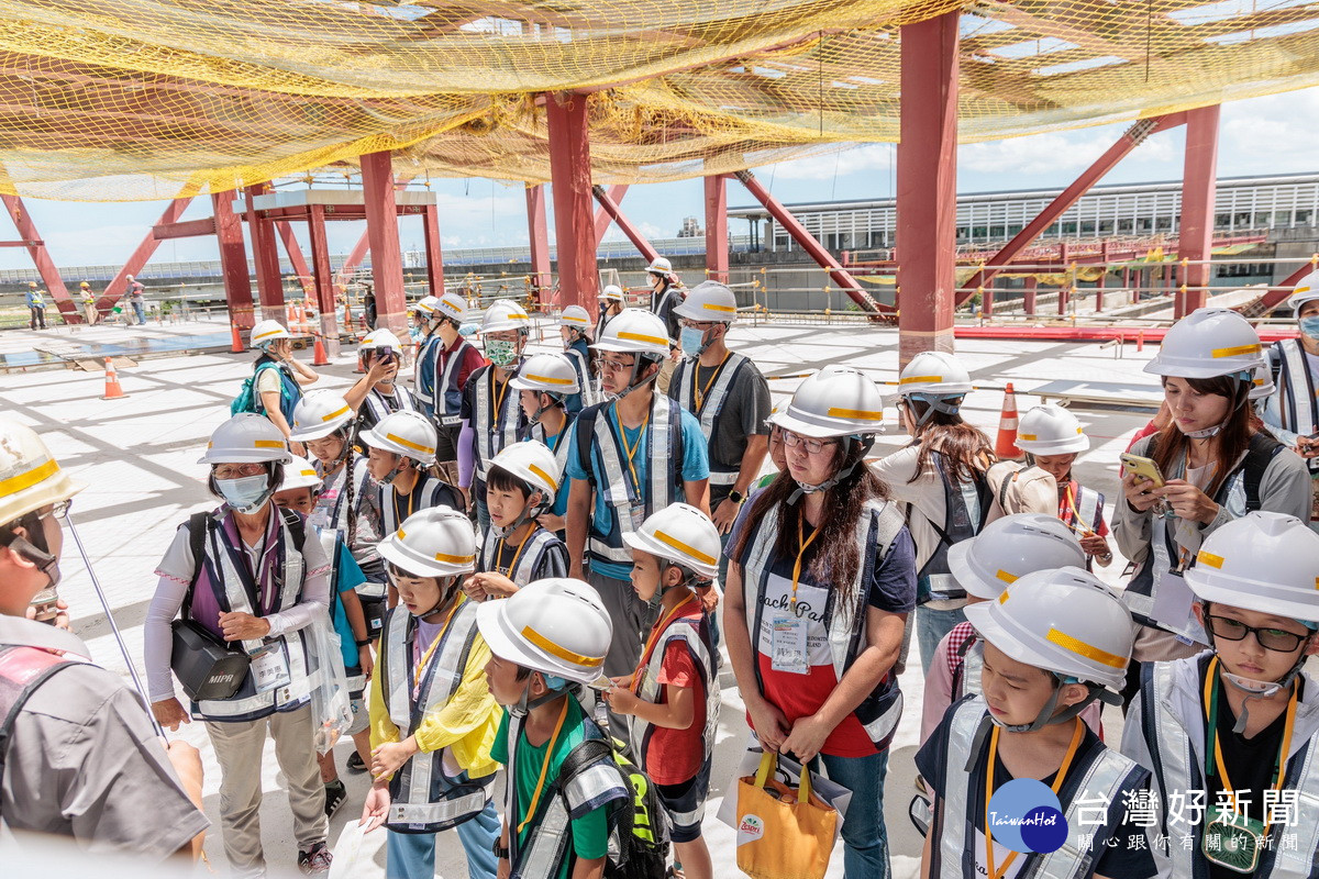
M 1297 0 L 0 0 L 0 191 L 170 198 L 383 149 L 541 182 L 538 101 L 570 90 L 600 183 L 894 141 L 901 28 L 959 9 L 963 141 L 1319 80 Z

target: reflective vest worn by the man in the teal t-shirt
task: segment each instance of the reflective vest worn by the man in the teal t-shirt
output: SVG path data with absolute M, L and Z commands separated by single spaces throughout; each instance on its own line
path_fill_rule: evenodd
M 609 510 L 608 522 L 591 518 L 587 555 L 601 561 L 632 564 L 632 551 L 623 543 L 624 532 L 630 534 L 634 530 L 632 510 L 641 507 L 644 511 L 637 522 L 640 523 L 656 510 L 683 499 L 682 410 L 663 394 L 653 394 L 645 438 L 638 440 L 644 448 L 637 449 L 637 456 L 644 457 L 646 463 L 646 484 L 634 486 L 632 468 L 628 467 L 628 453 L 619 439 L 623 427 L 609 419 L 611 407 L 617 419 L 616 403 L 600 403 L 583 409 L 574 426 L 578 431 L 582 469 L 591 474 L 591 485 L 604 496 Z M 656 436 L 660 436 L 658 441 Z M 600 456 L 604 467 L 603 482 L 600 474 L 595 472 L 591 452 L 598 452 Z

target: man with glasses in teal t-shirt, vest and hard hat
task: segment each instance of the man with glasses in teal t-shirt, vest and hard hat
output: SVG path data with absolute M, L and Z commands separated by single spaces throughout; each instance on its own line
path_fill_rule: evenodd
M 571 576 L 600 593 L 613 621 L 604 673 L 617 676 L 637 667 L 641 633 L 654 622 L 632 588 L 623 536 L 679 499 L 708 514 L 710 459 L 695 416 L 653 387 L 669 356 L 660 318 L 625 308 L 591 348 L 609 401 L 583 409 L 572 426 L 567 544 Z M 718 596 L 707 590 L 706 600 Z

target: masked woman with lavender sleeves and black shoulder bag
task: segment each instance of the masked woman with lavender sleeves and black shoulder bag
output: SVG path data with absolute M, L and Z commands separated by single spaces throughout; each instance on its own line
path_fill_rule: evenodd
M 280 510 L 273 497 L 293 457 L 280 431 L 252 412 L 233 415 L 211 434 L 207 486 L 223 503 L 190 517 L 156 568 L 160 577 L 142 626 L 152 712 L 169 730 L 200 717 L 220 766 L 224 854 L 237 876 L 259 876 L 261 754 L 274 741 L 285 776 L 297 865 L 328 872 L 324 785 L 313 739 L 313 671 L 307 627 L 330 608 L 330 559 L 306 519 Z M 181 615 L 182 614 L 182 615 Z M 241 650 L 251 663 L 227 698 L 202 698 L 185 710 L 171 671 L 191 668 L 174 650 L 171 626 Z M 145 813 L 152 814 L 150 812 Z M 144 816 L 138 816 L 144 820 Z

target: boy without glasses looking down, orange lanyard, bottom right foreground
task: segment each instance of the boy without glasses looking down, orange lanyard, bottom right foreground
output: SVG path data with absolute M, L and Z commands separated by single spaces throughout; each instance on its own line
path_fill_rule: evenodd
M 1058 568 L 1008 584 L 967 619 L 984 642 L 983 693 L 954 704 L 915 755 L 935 797 L 921 875 L 1158 875 L 1129 805 L 1149 772 L 1078 717 L 1095 700 L 1120 701 L 1134 635 L 1121 600 L 1086 571 Z M 1024 838 L 1028 809 L 1042 805 L 1060 814 Z

